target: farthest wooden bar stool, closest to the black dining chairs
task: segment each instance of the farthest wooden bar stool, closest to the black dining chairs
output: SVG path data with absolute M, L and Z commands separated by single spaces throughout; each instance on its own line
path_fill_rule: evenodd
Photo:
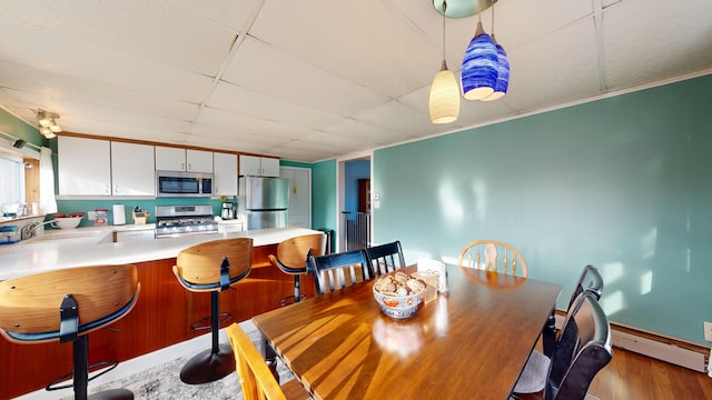
M 307 260 L 309 254 L 324 256 L 326 249 L 326 234 L 314 233 L 287 239 L 277 244 L 277 256 L 269 254 L 269 262 L 279 268 L 284 273 L 294 276 L 294 296 L 279 300 L 279 306 L 299 302 L 301 294 L 300 278 L 307 274 Z

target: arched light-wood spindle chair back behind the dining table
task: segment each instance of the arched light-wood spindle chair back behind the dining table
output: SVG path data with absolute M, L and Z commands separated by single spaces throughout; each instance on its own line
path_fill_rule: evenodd
M 513 277 L 526 278 L 527 274 L 526 261 L 518 250 L 498 240 L 475 240 L 467 243 L 459 252 L 457 264 Z

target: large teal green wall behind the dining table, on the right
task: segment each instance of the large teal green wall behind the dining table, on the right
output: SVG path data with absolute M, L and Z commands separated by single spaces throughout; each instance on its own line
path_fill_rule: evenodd
M 377 150 L 375 242 L 414 261 L 507 241 L 564 284 L 560 308 L 592 263 L 612 321 L 706 344 L 711 92 L 706 76 Z

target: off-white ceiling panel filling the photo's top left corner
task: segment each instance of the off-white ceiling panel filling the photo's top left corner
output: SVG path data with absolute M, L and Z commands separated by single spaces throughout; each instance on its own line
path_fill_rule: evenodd
M 236 33 L 169 1 L 10 1 L 2 6 L 0 17 L 209 77 L 218 72 Z

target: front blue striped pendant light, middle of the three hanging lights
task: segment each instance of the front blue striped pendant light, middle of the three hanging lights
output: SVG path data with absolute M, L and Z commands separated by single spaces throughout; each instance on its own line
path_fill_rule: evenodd
M 475 37 L 465 50 L 461 81 L 463 96 L 467 100 L 482 100 L 494 93 L 497 82 L 497 48 L 482 28 L 482 18 L 477 22 Z

